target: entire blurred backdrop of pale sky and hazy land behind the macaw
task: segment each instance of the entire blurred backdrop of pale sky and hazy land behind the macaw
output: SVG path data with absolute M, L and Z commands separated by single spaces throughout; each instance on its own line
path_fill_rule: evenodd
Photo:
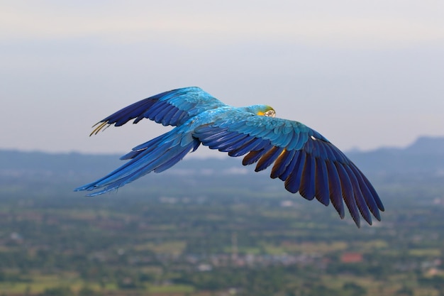
M 0 1 L 0 295 L 444 295 L 443 12 Z M 382 222 L 357 229 L 205 147 L 118 192 L 72 192 L 168 130 L 92 125 L 187 86 L 321 132 L 373 182 Z

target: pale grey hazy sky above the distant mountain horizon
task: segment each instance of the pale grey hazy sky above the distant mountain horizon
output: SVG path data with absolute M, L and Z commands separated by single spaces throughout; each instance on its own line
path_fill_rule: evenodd
M 91 126 L 187 86 L 342 150 L 444 136 L 443 16 L 442 0 L 0 1 L 0 149 L 125 153 L 168 128 Z

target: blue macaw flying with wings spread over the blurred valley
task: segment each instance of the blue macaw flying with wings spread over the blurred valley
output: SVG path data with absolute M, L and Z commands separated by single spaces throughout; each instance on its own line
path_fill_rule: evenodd
M 94 196 L 116 190 L 149 172 L 171 168 L 202 144 L 233 157 L 246 154 L 243 165 L 257 163 L 256 172 L 272 165 L 270 177 L 284 181 L 285 189 L 309 200 L 316 197 L 326 206 L 331 202 L 341 219 L 345 202 L 358 227 L 360 215 L 370 225 L 371 214 L 381 219 L 384 206 L 356 165 L 320 133 L 276 118 L 271 106 L 228 106 L 199 87 L 185 87 L 126 106 L 99 121 L 90 136 L 144 118 L 175 127 L 136 146 L 121 157 L 129 161 L 120 168 L 75 191 L 99 190 L 89 194 Z

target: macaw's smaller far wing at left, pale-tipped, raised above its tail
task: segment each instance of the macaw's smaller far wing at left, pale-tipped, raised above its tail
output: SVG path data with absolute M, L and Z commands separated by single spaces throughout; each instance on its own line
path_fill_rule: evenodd
M 134 119 L 133 124 L 148 118 L 164 126 L 180 126 L 190 117 L 220 106 L 226 106 L 226 104 L 199 87 L 174 89 L 135 102 L 111 114 L 96 124 L 98 126 L 91 135 L 99 133 L 102 128 L 113 124 L 114 126 L 122 126 L 131 119 Z

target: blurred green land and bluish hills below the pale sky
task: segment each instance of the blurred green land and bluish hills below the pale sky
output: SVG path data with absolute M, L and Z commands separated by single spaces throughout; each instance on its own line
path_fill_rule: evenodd
M 349 153 L 386 209 L 360 229 L 240 159 L 84 197 L 116 155 L 0 151 L 0 295 L 444 295 L 443 143 Z

